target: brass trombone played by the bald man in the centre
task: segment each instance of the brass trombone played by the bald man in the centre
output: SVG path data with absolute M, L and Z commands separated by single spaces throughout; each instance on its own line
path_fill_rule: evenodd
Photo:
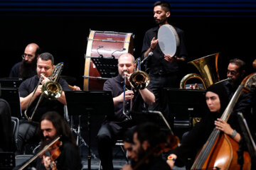
M 143 72 L 141 71 L 140 69 L 140 63 L 141 62 L 141 59 L 140 58 L 137 58 L 137 60 L 135 60 L 135 64 L 136 64 L 136 67 L 135 67 L 135 70 L 132 75 L 129 77 L 129 85 L 132 87 L 131 90 L 142 90 L 142 89 L 145 89 L 147 86 L 149 86 L 149 82 L 150 82 L 150 78 L 149 78 L 149 75 L 146 74 L 146 72 Z M 124 97 L 123 97 L 123 108 L 122 108 L 122 113 L 129 119 L 131 120 L 132 118 L 126 114 L 126 111 L 125 111 L 125 91 L 127 90 L 127 87 L 126 87 L 126 79 L 127 79 L 127 76 L 126 76 L 127 72 L 124 72 Z M 133 97 L 132 97 L 133 98 Z M 130 99 L 130 111 L 132 111 L 132 98 Z

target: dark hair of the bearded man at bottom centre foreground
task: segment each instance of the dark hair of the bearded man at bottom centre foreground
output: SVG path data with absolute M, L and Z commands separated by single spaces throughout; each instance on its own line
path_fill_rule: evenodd
M 134 132 L 137 132 L 137 137 L 140 143 L 148 141 L 151 148 L 166 142 L 164 132 L 161 132 L 159 126 L 154 123 L 142 123 L 137 126 Z

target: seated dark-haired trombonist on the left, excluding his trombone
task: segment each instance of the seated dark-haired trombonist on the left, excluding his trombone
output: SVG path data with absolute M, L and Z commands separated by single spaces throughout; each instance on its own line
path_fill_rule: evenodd
M 23 81 L 18 88 L 20 93 L 21 110 L 25 110 L 28 106 L 31 96 L 33 96 L 33 91 L 38 85 L 39 78 L 42 77 L 43 79 L 41 84 L 49 81 L 48 77 L 50 77 L 50 75 L 53 73 L 54 67 L 54 58 L 50 53 L 44 52 L 38 57 L 36 67 L 37 75 L 26 79 L 26 81 Z M 66 105 L 64 91 L 70 91 L 70 88 L 68 83 L 61 78 L 58 80 L 58 83 L 63 88 L 63 92 L 60 98 L 55 101 L 50 101 L 43 97 L 38 105 L 33 120 L 21 120 L 21 124 L 18 129 L 18 154 L 23 153 L 23 146 L 26 143 L 34 144 L 38 141 L 38 137 L 36 136 L 36 128 L 38 126 L 38 120 L 40 120 L 41 115 L 47 111 L 57 111 L 58 113 L 63 113 L 64 105 Z M 38 98 L 41 96 L 41 87 L 42 85 L 38 85 L 36 92 L 34 93 L 34 96 L 31 100 L 31 106 L 28 108 L 28 115 L 33 113 L 34 108 L 36 107 L 36 103 L 38 103 Z

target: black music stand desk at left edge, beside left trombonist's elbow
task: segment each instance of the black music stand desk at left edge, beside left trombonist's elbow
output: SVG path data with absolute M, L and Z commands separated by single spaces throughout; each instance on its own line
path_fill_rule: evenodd
M 21 103 L 18 89 L 1 89 L 1 98 L 6 100 L 11 108 L 11 116 L 21 118 Z

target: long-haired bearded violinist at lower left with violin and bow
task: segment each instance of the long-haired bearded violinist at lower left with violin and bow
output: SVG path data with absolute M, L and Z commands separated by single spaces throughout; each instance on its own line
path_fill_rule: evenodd
M 36 155 L 28 162 L 16 166 L 15 169 L 82 169 L 75 138 L 67 121 L 59 113 L 49 111 L 43 114 L 39 121 L 37 133 L 41 140 L 38 153 L 35 153 Z M 50 145 L 55 139 L 58 140 Z M 49 148 L 43 150 L 45 147 Z

